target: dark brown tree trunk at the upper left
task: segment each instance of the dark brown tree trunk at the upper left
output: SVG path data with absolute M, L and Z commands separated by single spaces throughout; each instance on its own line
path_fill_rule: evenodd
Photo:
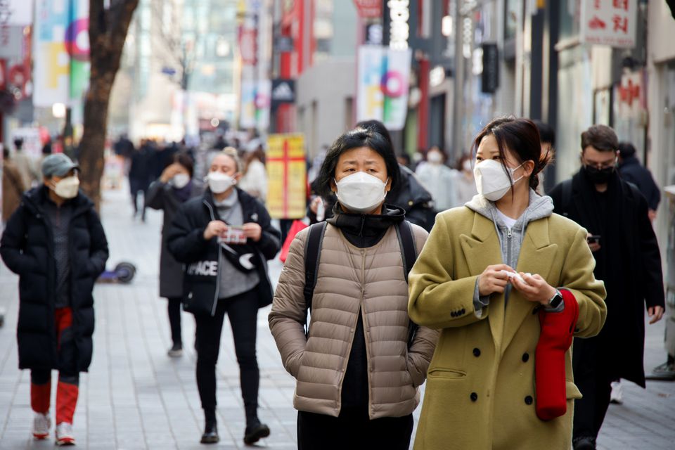
M 103 150 L 108 131 L 108 103 L 115 75 L 120 68 L 122 49 L 129 23 L 139 0 L 89 0 L 89 43 L 91 74 L 84 99 L 84 133 L 79 142 L 79 176 L 82 190 L 96 205 L 101 205 Z

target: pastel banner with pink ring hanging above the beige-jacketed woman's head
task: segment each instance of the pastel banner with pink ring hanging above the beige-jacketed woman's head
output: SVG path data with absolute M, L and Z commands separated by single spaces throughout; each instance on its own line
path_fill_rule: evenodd
M 359 47 L 356 121 L 380 120 L 390 130 L 403 129 L 408 113 L 411 56 L 410 49 Z

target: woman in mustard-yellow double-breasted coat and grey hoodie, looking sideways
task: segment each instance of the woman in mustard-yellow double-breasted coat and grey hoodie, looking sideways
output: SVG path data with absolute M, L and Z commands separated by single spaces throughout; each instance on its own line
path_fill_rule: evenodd
M 578 305 L 574 336 L 596 335 L 605 321 L 605 288 L 593 277 L 586 230 L 553 214 L 551 198 L 534 191 L 548 160 L 535 125 L 497 119 L 474 145 L 479 194 L 437 216 L 410 274 L 411 319 L 441 330 L 415 449 L 568 450 L 572 402 L 581 397 L 572 349 L 560 355 L 566 413 L 541 420 L 539 311 L 563 314 Z M 572 296 L 574 305 L 567 302 Z

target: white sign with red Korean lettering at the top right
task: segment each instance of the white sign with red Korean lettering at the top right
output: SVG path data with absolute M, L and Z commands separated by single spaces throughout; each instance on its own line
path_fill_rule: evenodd
M 581 42 L 632 49 L 637 26 L 638 0 L 581 2 Z

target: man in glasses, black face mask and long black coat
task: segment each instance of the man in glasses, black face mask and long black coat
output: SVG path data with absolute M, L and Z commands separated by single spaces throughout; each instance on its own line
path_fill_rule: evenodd
M 619 378 L 645 387 L 644 310 L 650 323 L 664 312 L 661 257 L 644 196 L 616 170 L 617 135 L 605 125 L 581 134 L 581 169 L 551 191 L 555 212 L 589 231 L 596 278 L 605 281 L 608 318 L 595 338 L 575 339 L 574 449 L 595 449 Z

